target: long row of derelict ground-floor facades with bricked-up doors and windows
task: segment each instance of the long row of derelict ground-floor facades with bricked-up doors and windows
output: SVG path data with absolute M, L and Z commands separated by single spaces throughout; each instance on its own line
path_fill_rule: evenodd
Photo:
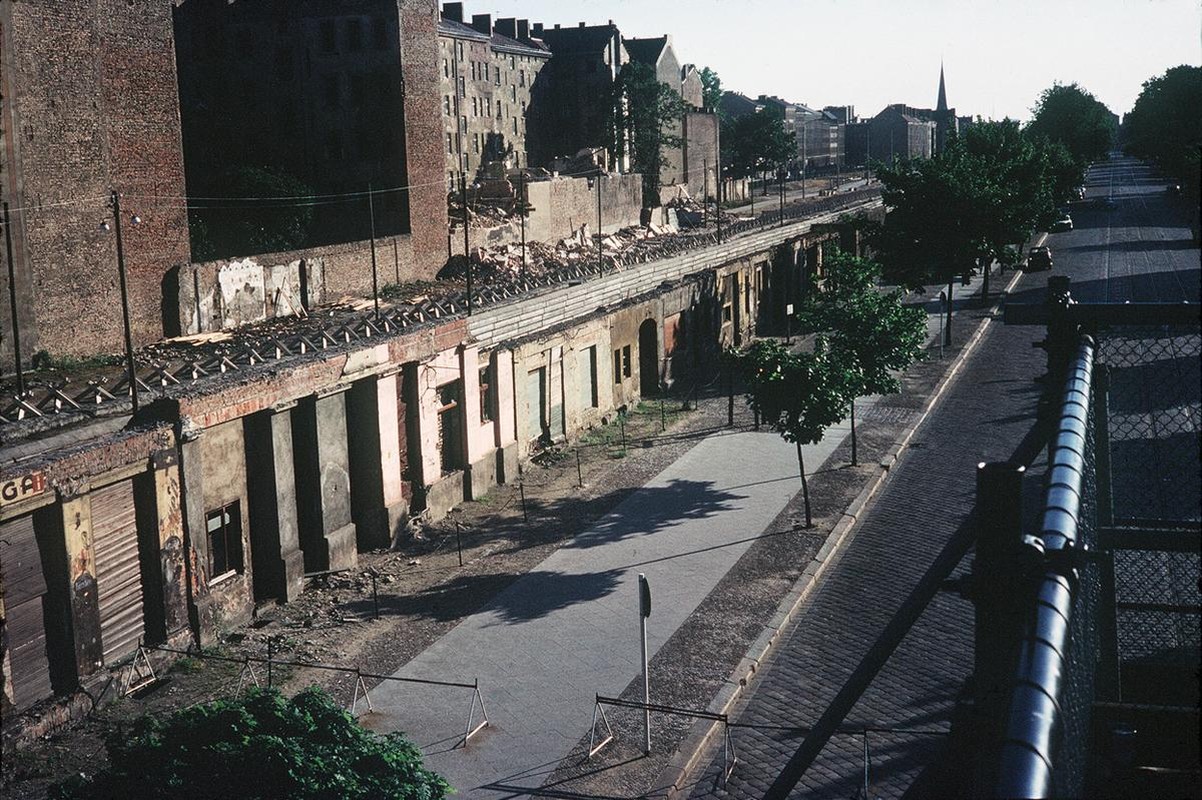
M 212 643 L 305 573 L 512 482 L 537 448 L 712 381 L 720 348 L 784 324 L 825 246 L 857 246 L 837 219 L 156 387 L 132 419 L 125 402 L 8 428 L 6 726 L 46 730 L 139 641 Z

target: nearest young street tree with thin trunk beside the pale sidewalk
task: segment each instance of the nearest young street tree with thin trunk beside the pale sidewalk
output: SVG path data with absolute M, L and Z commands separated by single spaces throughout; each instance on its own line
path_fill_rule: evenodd
M 811 353 L 792 353 L 776 340 L 761 339 L 736 356 L 748 384 L 748 404 L 760 419 L 797 446 L 805 526 L 814 525 L 803 444 L 816 444 L 826 429 L 844 419 L 851 381 L 819 336 Z

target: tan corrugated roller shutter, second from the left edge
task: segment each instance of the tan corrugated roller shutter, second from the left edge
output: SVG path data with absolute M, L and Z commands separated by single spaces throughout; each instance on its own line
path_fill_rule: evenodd
M 91 492 L 93 547 L 105 663 L 131 653 L 142 638 L 142 566 L 133 513 L 133 483 Z

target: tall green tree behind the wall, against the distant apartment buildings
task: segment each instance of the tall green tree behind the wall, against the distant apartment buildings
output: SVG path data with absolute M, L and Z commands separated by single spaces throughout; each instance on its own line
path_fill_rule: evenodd
M 659 205 L 660 175 L 670 163 L 665 150 L 684 142 L 679 135 L 684 101 L 660 83 L 651 67 L 630 61 L 614 82 L 612 106 L 615 125 L 609 150 L 621 156 L 630 148 L 631 167 L 643 175 L 643 204 Z

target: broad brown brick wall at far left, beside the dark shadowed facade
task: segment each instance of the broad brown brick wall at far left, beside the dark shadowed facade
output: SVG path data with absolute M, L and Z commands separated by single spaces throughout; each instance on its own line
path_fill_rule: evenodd
M 161 0 L 5 4 L 5 197 L 23 213 L 22 273 L 38 346 L 121 348 L 107 193 L 126 195 L 125 255 L 136 342 L 162 334 L 163 274 L 189 261 L 171 5 Z M 6 17 L 6 19 L 5 19 Z M 32 338 L 35 332 L 30 332 Z

